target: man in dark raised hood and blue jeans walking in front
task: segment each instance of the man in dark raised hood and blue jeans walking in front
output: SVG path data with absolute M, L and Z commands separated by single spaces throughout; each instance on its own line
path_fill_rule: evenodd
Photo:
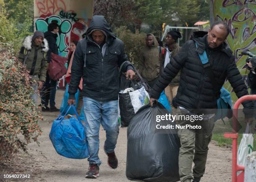
M 74 52 L 69 85 L 68 104 L 75 105 L 74 94 L 83 77 L 83 101 L 85 113 L 85 133 L 90 157 L 87 178 L 97 178 L 101 164 L 99 152 L 100 123 L 106 131 L 104 151 L 108 155 L 108 165 L 116 169 L 118 159 L 115 146 L 119 133 L 118 125 L 118 68 L 127 79 L 135 73 L 127 61 L 124 44 L 110 29 L 103 16 L 92 17 L 86 37 L 78 42 Z

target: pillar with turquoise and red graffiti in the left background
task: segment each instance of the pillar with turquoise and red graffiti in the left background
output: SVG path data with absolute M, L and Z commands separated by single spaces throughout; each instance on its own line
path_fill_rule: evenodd
M 59 55 L 69 55 L 72 40 L 81 40 L 90 24 L 93 13 L 93 0 L 34 0 L 35 30 L 47 31 L 55 20 L 60 30 L 57 37 Z M 60 79 L 59 87 L 64 86 Z

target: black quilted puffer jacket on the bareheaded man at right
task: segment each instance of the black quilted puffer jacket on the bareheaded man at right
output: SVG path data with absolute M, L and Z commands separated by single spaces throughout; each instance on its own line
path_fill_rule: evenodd
M 195 46 L 198 43 L 198 48 Z M 242 76 L 236 67 L 232 51 L 225 45 L 215 49 L 208 47 L 207 35 L 194 37 L 187 41 L 180 52 L 170 60 L 164 72 L 151 90 L 151 97 L 159 98 L 162 90 L 181 71 L 181 80 L 173 104 L 186 109 L 213 109 L 217 108 L 218 96 L 214 94 L 210 78 L 207 76 L 198 52 L 206 50 L 212 72 L 218 81 L 218 90 L 223 86 L 225 79 L 230 82 L 237 97 L 248 95 Z M 246 108 L 253 108 L 251 101 L 243 102 Z

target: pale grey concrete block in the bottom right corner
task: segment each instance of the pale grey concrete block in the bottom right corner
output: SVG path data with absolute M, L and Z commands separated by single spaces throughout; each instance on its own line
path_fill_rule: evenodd
M 256 182 L 256 152 L 246 157 L 244 182 Z

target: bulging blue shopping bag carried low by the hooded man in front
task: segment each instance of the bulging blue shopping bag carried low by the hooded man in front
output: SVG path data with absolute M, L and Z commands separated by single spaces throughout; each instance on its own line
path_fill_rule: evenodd
M 67 112 L 73 108 L 77 118 L 64 119 Z M 82 124 L 74 105 L 68 107 L 67 112 L 54 120 L 49 137 L 59 155 L 72 159 L 89 157 L 87 141 Z

